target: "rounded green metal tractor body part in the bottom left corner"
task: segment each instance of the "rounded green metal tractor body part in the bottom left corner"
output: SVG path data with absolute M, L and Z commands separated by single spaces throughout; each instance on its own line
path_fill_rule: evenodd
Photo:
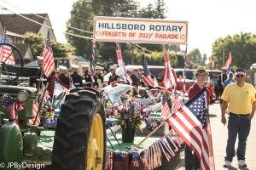
M 23 140 L 20 127 L 15 122 L 0 127 L 0 162 L 21 162 Z

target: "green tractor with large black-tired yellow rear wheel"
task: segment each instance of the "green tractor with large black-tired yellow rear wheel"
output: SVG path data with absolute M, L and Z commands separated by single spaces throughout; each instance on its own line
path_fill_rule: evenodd
M 104 169 L 106 129 L 101 94 L 92 88 L 71 90 L 61 105 L 55 130 L 47 136 L 44 131 L 48 129 L 36 126 L 35 121 L 29 123 L 38 116 L 32 116 L 35 101 L 39 102 L 38 113 L 41 109 L 40 86 L 22 85 L 31 79 L 42 81 L 42 65 L 24 65 L 19 49 L 11 44 L 0 43 L 0 48 L 11 49 L 8 57 L 13 55 L 20 62 L 0 64 L 0 169 L 29 163 L 34 165 L 30 167 L 41 163 L 55 170 Z

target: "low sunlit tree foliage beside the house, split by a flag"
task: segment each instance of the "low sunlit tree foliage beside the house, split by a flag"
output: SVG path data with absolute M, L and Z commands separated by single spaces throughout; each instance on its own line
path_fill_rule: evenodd
M 34 57 L 40 56 L 44 49 L 45 38 L 42 34 L 34 34 L 32 32 L 26 32 L 25 42 L 30 44 L 32 49 L 32 55 Z M 60 42 L 52 42 L 52 50 L 54 57 L 67 57 L 70 54 L 74 53 L 74 48 L 68 44 Z

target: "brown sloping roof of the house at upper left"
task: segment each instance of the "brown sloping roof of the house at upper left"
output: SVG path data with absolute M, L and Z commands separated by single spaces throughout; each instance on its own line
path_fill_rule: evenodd
M 44 24 L 43 18 L 40 18 L 34 14 L 22 14 L 23 16 L 36 20 L 37 22 Z M 44 18 L 49 18 L 48 14 L 38 14 Z M 3 26 L 7 31 L 15 32 L 16 34 L 24 35 L 26 31 L 32 31 L 38 33 L 42 26 L 20 17 L 17 14 L 0 14 L 0 20 L 2 20 Z

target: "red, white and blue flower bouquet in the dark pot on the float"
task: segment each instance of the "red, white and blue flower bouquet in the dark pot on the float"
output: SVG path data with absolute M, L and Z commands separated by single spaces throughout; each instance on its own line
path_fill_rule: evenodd
M 118 119 L 122 127 L 139 127 L 143 123 L 143 105 L 134 98 L 128 99 L 125 103 L 115 103 L 109 115 Z

